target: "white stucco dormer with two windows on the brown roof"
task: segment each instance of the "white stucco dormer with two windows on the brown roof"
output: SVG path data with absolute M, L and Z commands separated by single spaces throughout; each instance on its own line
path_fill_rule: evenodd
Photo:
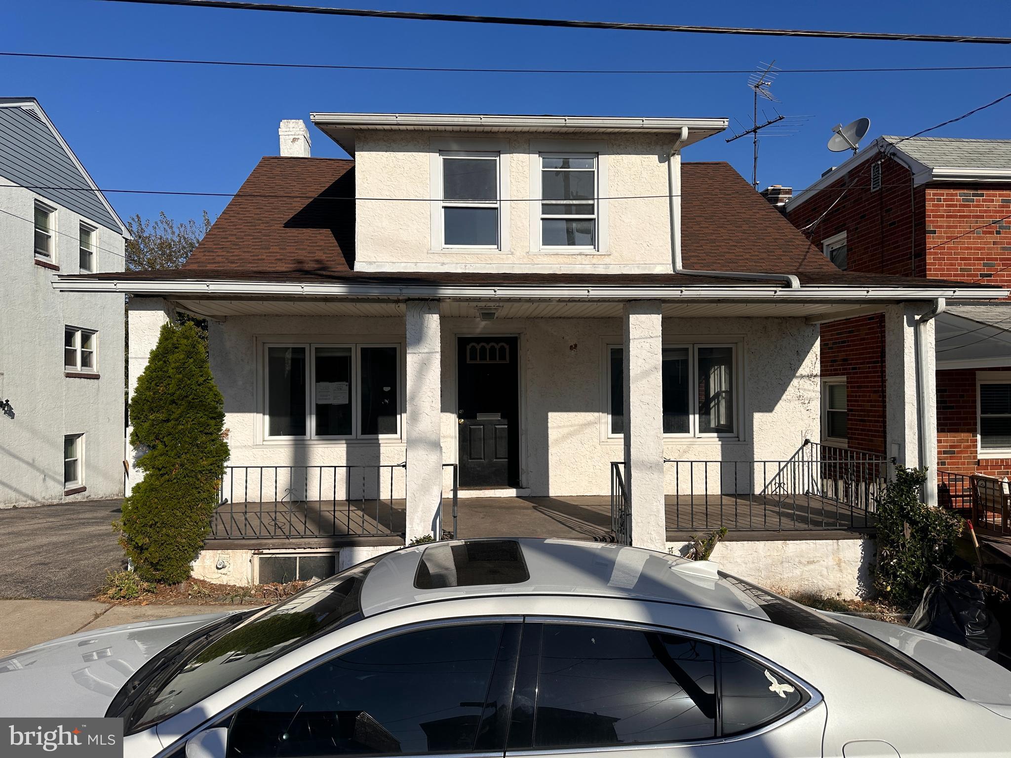
M 355 270 L 404 272 L 669 273 L 671 150 L 727 125 L 722 118 L 311 117 L 355 159 Z

